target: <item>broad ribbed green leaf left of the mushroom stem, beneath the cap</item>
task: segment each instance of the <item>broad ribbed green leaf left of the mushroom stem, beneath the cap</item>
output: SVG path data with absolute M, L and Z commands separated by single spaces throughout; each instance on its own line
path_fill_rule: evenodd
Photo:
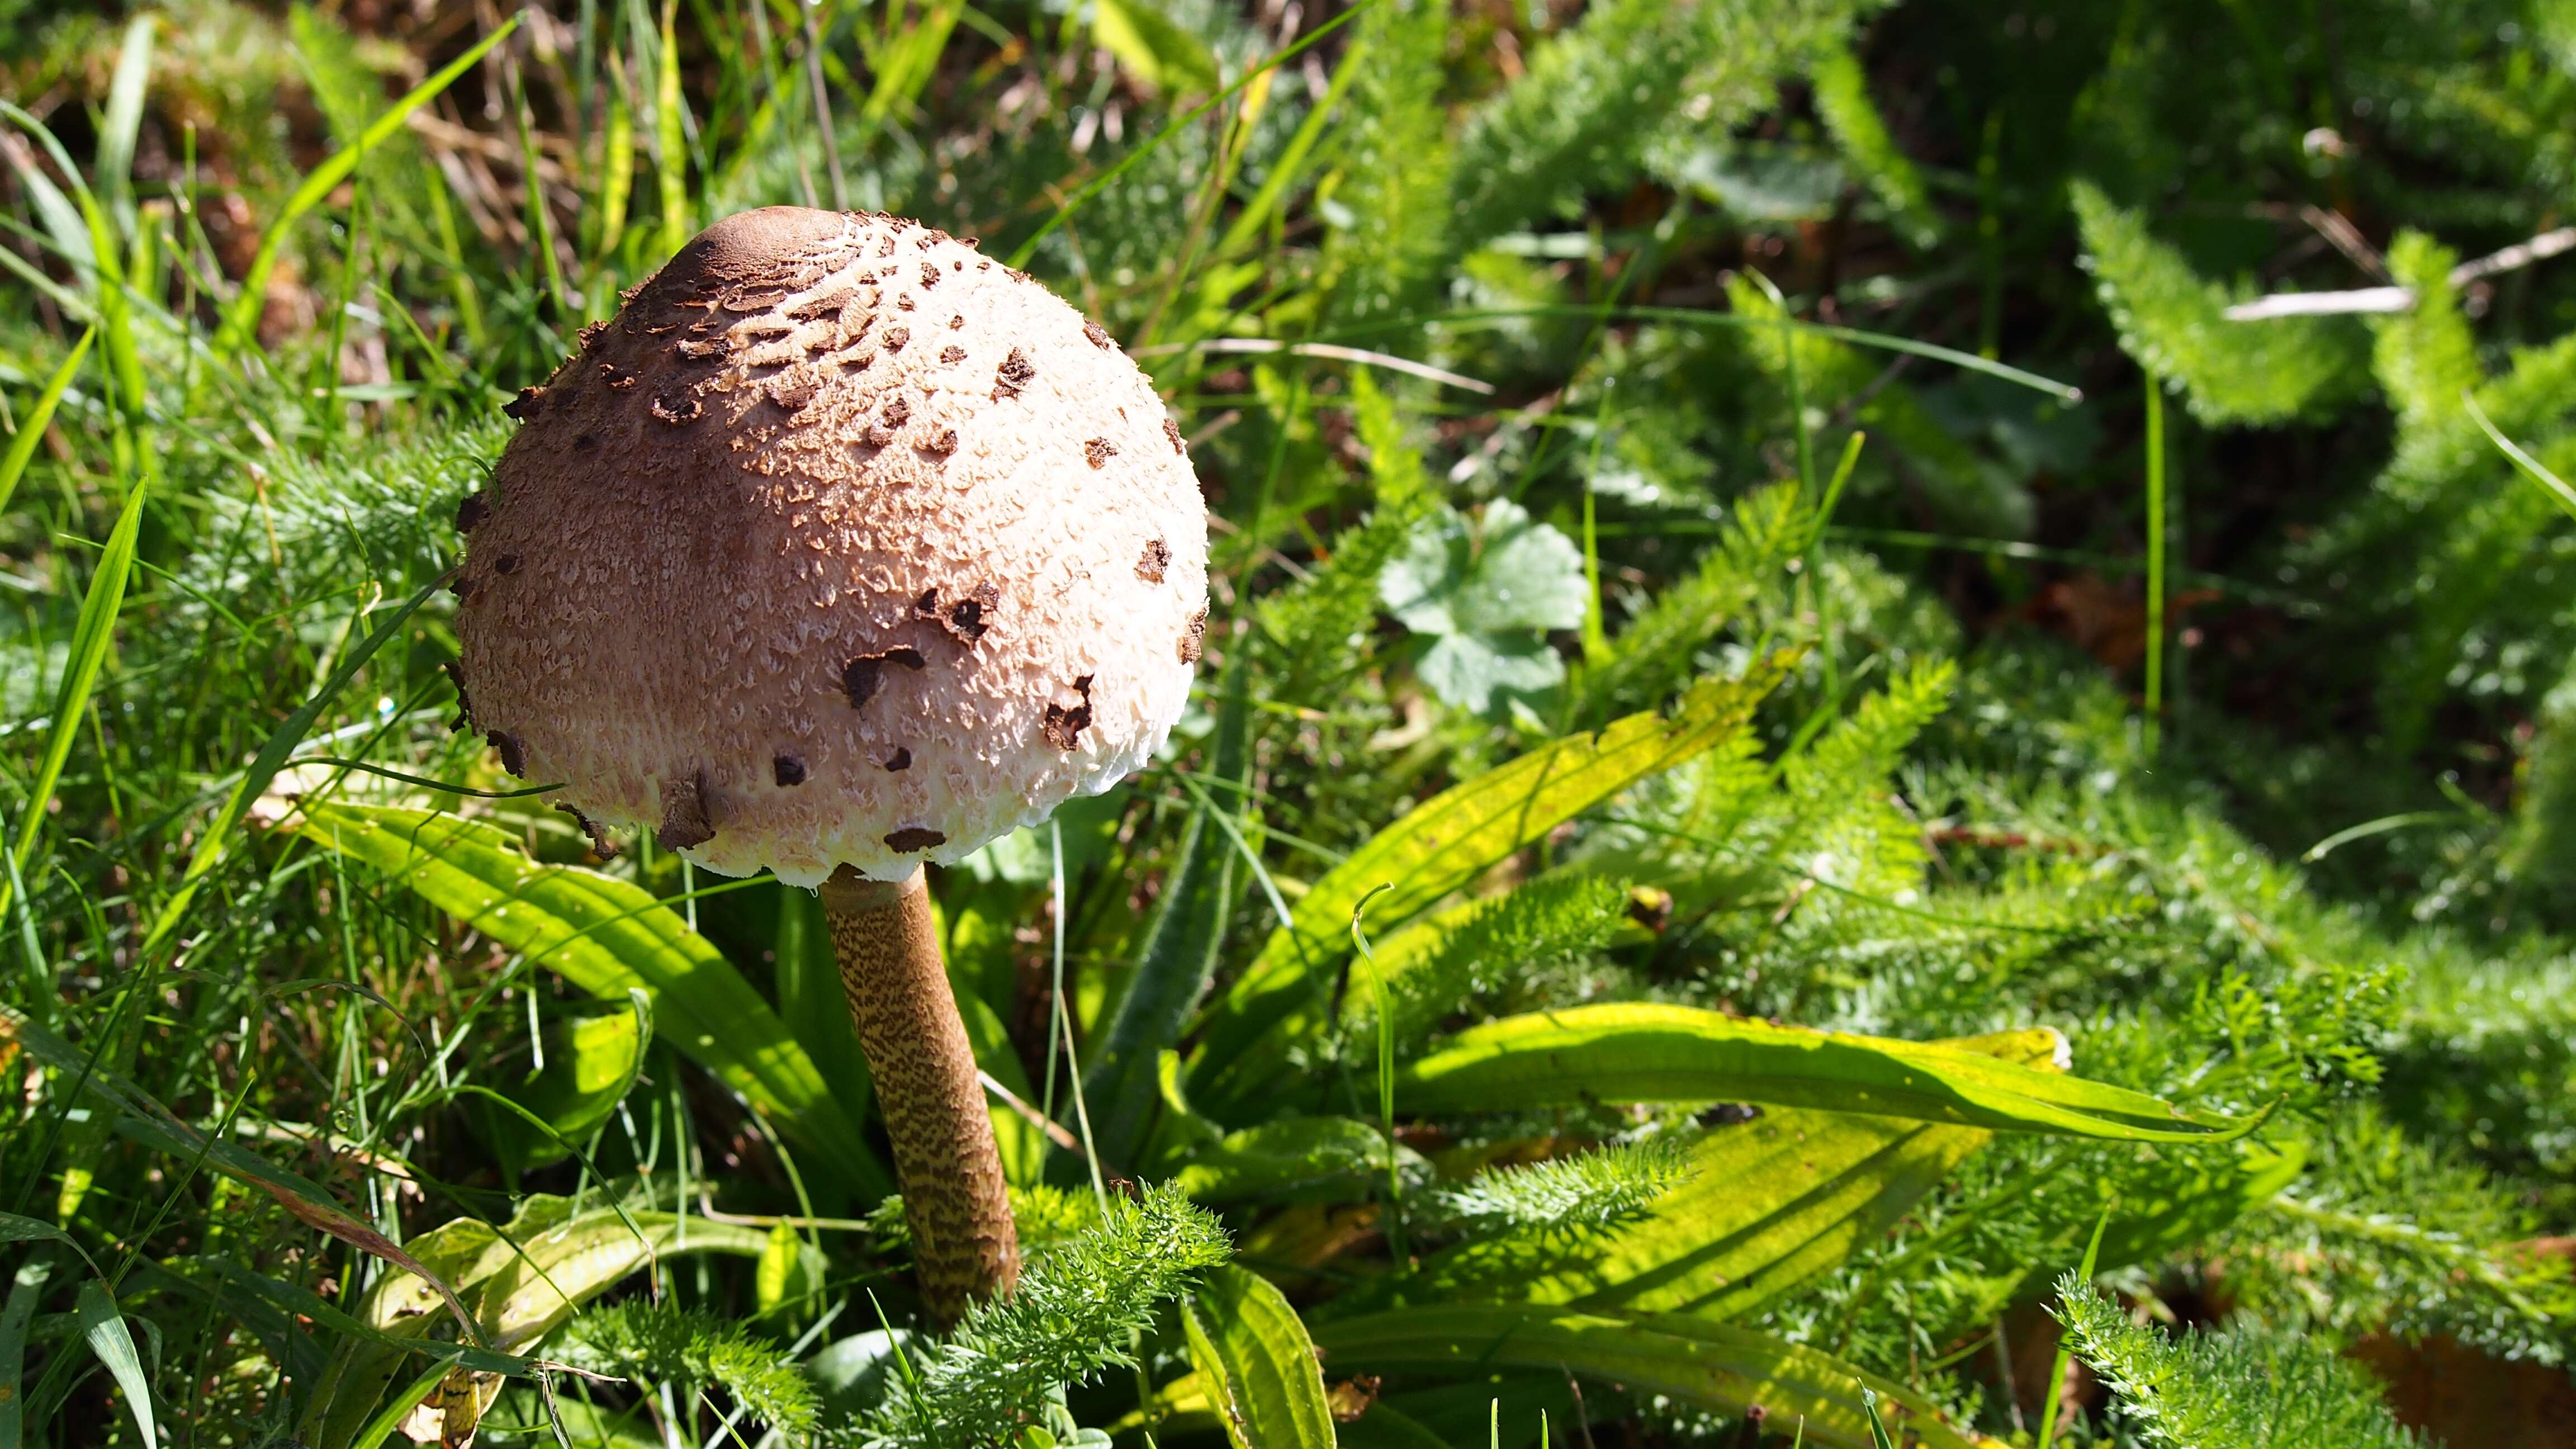
M 641 990 L 654 1031 L 817 1150 L 819 1168 L 871 1196 L 891 1191 L 876 1152 L 824 1091 L 786 1021 L 644 887 L 531 861 L 495 825 L 433 810 L 312 802 L 286 828 L 376 866 L 590 995 L 626 1000 L 629 990 Z

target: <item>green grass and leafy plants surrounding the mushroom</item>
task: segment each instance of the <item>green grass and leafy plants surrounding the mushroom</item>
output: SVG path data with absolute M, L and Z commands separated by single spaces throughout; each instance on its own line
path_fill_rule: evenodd
M 2576 294 L 2210 278 L 2543 229 L 2571 101 L 2094 10 L 0 5 L 0 1449 L 2398 1441 L 2324 1354 L 2563 1372 Z M 948 1338 L 814 900 L 598 859 L 440 668 L 500 407 L 840 201 L 1108 325 L 1221 575 L 1164 758 L 935 879 L 1033 1245 Z

